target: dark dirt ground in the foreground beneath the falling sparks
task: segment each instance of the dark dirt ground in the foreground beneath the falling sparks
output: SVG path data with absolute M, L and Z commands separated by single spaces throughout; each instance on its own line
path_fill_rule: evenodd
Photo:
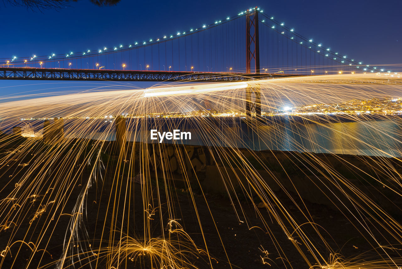
M 20 141 L 21 142 L 21 141 Z M 16 144 L 20 143 L 16 142 Z M 14 148 L 17 145 L 8 145 Z M 2 152 L 7 149 L 3 148 Z M 18 175 L 23 175 L 29 171 L 30 166 L 22 166 L 21 163 L 35 161 L 35 149 L 32 153 L 14 164 L 4 167 L 0 172 L 0 200 L 5 199 L 14 190 L 16 184 L 20 182 Z M 273 153 L 274 154 L 274 153 Z M 117 156 L 111 156 L 111 163 L 117 163 Z M 62 157 L 61 157 L 62 158 Z M 350 157 L 353 158 L 353 157 Z M 110 158 L 109 158 L 110 160 Z M 107 167 L 107 169 L 111 169 Z M 307 169 L 307 168 L 306 168 Z M 18 171 L 17 175 L 16 171 Z M 77 171 L 78 168 L 77 168 Z M 111 170 L 113 171 L 113 170 Z M 304 174 L 305 175 L 305 174 Z M 1 268 L 37 268 L 48 265 L 48 268 L 55 267 L 55 261 L 62 257 L 63 244 L 70 235 L 70 221 L 74 212 L 74 206 L 83 191 L 86 179 L 90 176 L 90 167 L 80 172 L 80 179 L 74 182 L 68 193 L 63 196 L 63 206 L 53 208 L 52 205 L 33 221 L 33 216 L 37 212 L 40 199 L 31 199 L 29 206 L 24 208 L 24 214 L 20 214 L 17 227 L 10 226 L 0 232 L 0 251 L 18 240 L 33 242 L 37 251 L 31 259 L 33 253 L 27 245 L 15 243 L 10 247 L 10 251 L 5 257 L 0 257 Z M 158 177 L 157 177 L 158 176 Z M 51 177 L 51 175 L 50 175 Z M 390 220 L 383 219 L 380 223 L 375 223 L 374 218 L 366 214 L 359 220 L 364 220 L 365 227 L 356 219 L 356 215 L 346 210 L 336 210 L 325 204 L 310 202 L 309 199 L 301 199 L 296 194 L 288 195 L 284 190 L 275 190 L 273 194 L 280 201 L 283 208 L 279 208 L 273 203 L 273 208 L 268 210 L 258 196 L 251 199 L 242 192 L 236 194 L 212 194 L 203 191 L 202 184 L 205 180 L 205 173 L 199 173 L 199 181 L 191 181 L 190 184 L 180 180 L 177 176 L 175 180 L 170 180 L 167 185 L 160 174 L 154 173 L 149 178 L 147 184 L 150 189 L 148 201 L 144 198 L 144 185 L 127 180 L 113 180 L 113 173 L 105 172 L 103 180 L 98 180 L 88 188 L 88 194 L 84 202 L 84 212 L 86 212 L 80 231 L 88 238 L 82 244 L 96 247 L 107 247 L 114 244 L 111 240 L 113 232 L 118 230 L 133 238 L 144 237 L 144 218 L 150 218 L 149 227 L 152 237 L 168 236 L 168 221 L 174 218 L 183 230 L 194 241 L 198 249 L 202 251 L 195 255 L 187 255 L 189 262 L 198 268 L 309 268 L 302 255 L 297 251 L 295 245 L 301 249 L 310 261 L 312 254 L 306 245 L 301 244 L 302 238 L 285 234 L 283 226 L 293 232 L 296 227 L 292 227 L 283 217 L 281 211 L 286 210 L 297 224 L 306 223 L 306 219 L 311 219 L 314 224 L 304 224 L 303 230 L 310 238 L 312 245 L 323 255 L 319 258 L 322 262 L 330 258 L 331 253 L 341 253 L 343 257 L 356 257 L 364 254 L 367 259 L 380 257 L 379 253 L 373 250 L 378 243 L 370 236 L 381 238 L 383 245 L 397 244 L 401 238 L 393 238 L 387 234 L 381 224 L 386 224 Z M 219 177 L 216 177 L 219 180 Z M 27 193 L 28 196 L 30 193 Z M 39 204 L 38 204 L 39 203 Z M 56 204 L 56 202 L 54 203 Z M 125 206 L 122 206 L 125 204 Z M 144 212 L 144 204 L 151 205 L 150 211 Z M 300 206 L 302 210 L 297 208 Z M 123 210 L 124 209 L 124 210 Z M 2 207 L 2 210 L 5 210 Z M 280 225 L 273 211 L 278 212 L 283 217 Z M 149 213 L 152 212 L 152 215 Z M 55 216 L 53 216 L 55 213 Z M 12 214 L 10 211 L 2 212 L 6 217 Z M 144 216 L 144 214 L 146 214 Z M 307 215 L 307 217 L 306 217 Z M 111 216 L 114 216 L 112 218 Z M 149 217 L 150 216 L 150 217 Z M 399 223 L 398 214 L 395 221 Z M 17 220 L 14 219 L 14 222 Z M 31 222 L 31 224 L 30 224 Z M 48 227 L 46 232 L 42 232 L 43 227 Z M 321 237 L 315 232 L 316 228 Z M 119 233 L 117 233 L 119 234 Z M 38 237 L 41 243 L 37 243 Z M 176 238 L 172 235 L 172 238 Z M 10 239 L 12 237 L 12 239 Z M 181 240 L 184 240 L 180 237 Z M 184 242 L 183 241 L 183 242 Z M 187 240 L 187 243 L 189 241 Z M 32 247 L 32 245 L 31 245 Z M 184 247 L 184 245 L 182 246 Z M 332 249 L 328 251 L 328 247 Z M 18 252 L 18 255 L 16 253 Z M 209 253 L 206 255 L 205 253 Z M 392 255 L 398 256 L 398 253 Z M 106 268 L 105 260 L 99 260 L 96 268 Z M 312 263 L 314 265 L 314 263 Z M 75 267 L 91 268 L 90 265 L 75 264 Z M 73 267 L 68 267 L 73 268 Z M 92 267 L 94 268 L 94 267 Z M 146 255 L 137 261 L 126 259 L 120 268 L 151 268 L 150 260 Z

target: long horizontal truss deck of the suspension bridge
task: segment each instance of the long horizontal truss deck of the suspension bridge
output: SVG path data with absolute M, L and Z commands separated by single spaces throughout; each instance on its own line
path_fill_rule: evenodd
M 107 80 L 142 82 L 213 82 L 267 79 L 273 77 L 292 77 L 297 75 L 271 73 L 212 73 L 184 71 L 142 71 L 142 70 L 104 70 L 104 69 L 64 69 L 32 67 L 0 67 L 0 79 L 14 80 Z

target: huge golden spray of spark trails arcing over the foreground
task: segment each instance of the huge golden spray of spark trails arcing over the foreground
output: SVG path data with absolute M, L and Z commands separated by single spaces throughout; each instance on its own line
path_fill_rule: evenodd
M 338 74 L 4 98 L 2 129 L 21 128 L 0 137 L 0 267 L 234 268 L 236 256 L 248 263 L 256 255 L 258 267 L 399 268 L 400 118 L 243 117 L 249 88 L 260 89 L 268 115 L 398 100 L 401 82 Z M 178 116 L 192 111 L 202 116 Z M 150 143 L 153 128 L 197 138 Z M 275 151 L 278 144 L 289 147 Z M 219 191 L 230 215 L 207 194 Z M 356 245 L 339 241 L 339 229 L 355 233 Z

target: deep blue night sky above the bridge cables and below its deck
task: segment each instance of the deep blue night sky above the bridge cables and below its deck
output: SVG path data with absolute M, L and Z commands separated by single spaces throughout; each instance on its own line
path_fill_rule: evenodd
M 24 7 L 1 6 L 2 61 L 34 53 L 66 53 L 133 43 L 233 16 L 253 6 L 274 16 L 297 33 L 374 65 L 402 63 L 402 1 L 131 1 L 98 7 L 87 0 L 61 10 L 32 12 Z M 2 81 L 0 95 L 40 90 L 54 92 L 47 82 Z M 25 86 L 22 86 L 25 85 Z M 96 83 L 57 83 L 72 90 L 94 88 Z M 113 85 L 113 83 L 109 83 Z M 134 83 L 136 86 L 144 84 Z M 18 86 L 8 88 L 8 86 Z

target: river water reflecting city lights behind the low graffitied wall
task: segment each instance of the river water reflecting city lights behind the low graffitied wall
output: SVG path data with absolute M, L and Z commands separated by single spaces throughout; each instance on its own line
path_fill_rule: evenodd
M 115 140 L 113 122 L 90 134 Z M 191 132 L 191 140 L 163 143 L 241 147 L 252 150 L 298 151 L 402 157 L 402 116 L 274 116 L 258 122 L 244 118 L 176 118 L 127 120 L 127 140 L 158 143 L 151 130 Z

